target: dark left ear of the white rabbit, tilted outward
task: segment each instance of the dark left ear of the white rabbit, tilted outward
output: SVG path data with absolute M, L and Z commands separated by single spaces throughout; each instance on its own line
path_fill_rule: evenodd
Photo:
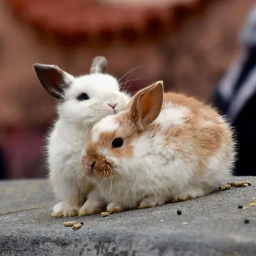
M 74 77 L 55 65 L 34 64 L 36 75 L 45 90 L 58 100 L 63 100 L 67 89 Z

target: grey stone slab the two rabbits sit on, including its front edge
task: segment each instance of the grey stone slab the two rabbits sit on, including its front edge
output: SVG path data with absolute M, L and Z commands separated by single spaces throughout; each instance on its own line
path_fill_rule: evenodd
M 256 207 L 237 205 L 252 202 L 256 177 L 237 180 L 252 186 L 106 218 L 52 218 L 45 180 L 0 182 L 0 255 L 254 256 Z M 84 225 L 74 231 L 63 227 L 68 220 Z

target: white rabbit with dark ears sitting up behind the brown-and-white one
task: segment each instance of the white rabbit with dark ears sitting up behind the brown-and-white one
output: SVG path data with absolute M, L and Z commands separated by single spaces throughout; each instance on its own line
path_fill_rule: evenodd
M 58 100 L 58 118 L 47 138 L 49 180 L 61 201 L 52 208 L 54 217 L 83 215 L 79 209 L 93 190 L 81 163 L 85 135 L 104 116 L 122 111 L 131 98 L 106 74 L 106 65 L 106 58 L 97 56 L 90 74 L 78 77 L 56 65 L 33 65 L 42 86 Z

